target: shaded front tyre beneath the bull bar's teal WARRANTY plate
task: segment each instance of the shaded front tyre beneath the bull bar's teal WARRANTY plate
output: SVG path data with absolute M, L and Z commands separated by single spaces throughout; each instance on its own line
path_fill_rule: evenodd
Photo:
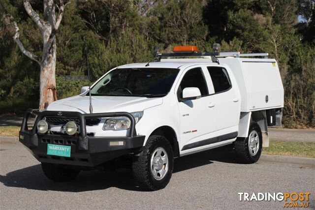
M 41 168 L 43 169 L 45 176 L 53 181 L 74 180 L 80 172 L 78 169 L 67 168 L 52 163 L 41 163 Z

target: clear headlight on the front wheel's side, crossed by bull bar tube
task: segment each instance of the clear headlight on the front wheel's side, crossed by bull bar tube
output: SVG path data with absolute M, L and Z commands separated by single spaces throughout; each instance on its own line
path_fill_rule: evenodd
M 143 112 L 130 113 L 137 123 L 143 116 Z M 127 117 L 118 117 L 107 119 L 103 125 L 103 130 L 126 130 L 130 128 L 130 120 Z

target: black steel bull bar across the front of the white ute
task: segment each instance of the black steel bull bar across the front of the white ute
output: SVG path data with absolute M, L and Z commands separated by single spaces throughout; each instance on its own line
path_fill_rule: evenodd
M 30 114 L 36 115 L 32 130 L 28 130 L 27 121 Z M 46 116 L 76 117 L 80 120 L 80 134 L 68 135 L 41 135 L 37 133 L 36 124 Z M 86 133 L 86 118 L 105 117 L 128 117 L 131 121 L 129 136 L 124 137 L 91 137 Z M 81 114 L 79 112 L 56 112 L 29 109 L 23 119 L 19 141 L 25 145 L 33 156 L 40 162 L 90 166 L 94 167 L 119 156 L 141 152 L 145 136 L 135 135 L 135 120 L 126 112 Z M 119 144 L 118 144 L 119 142 Z M 48 144 L 64 145 L 71 147 L 70 157 L 55 156 L 47 154 Z

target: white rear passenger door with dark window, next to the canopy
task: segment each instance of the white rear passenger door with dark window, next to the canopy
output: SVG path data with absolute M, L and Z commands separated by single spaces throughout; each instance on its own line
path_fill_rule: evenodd
M 217 106 L 217 136 L 238 131 L 241 111 L 241 95 L 230 69 L 219 66 L 207 66 L 210 74 Z M 236 137 L 236 136 L 235 136 Z

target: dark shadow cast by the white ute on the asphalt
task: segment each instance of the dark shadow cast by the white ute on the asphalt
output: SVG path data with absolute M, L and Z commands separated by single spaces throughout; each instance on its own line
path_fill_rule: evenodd
M 229 149 L 223 147 L 177 158 L 174 161 L 174 173 L 212 164 L 212 161 L 237 163 L 234 161 L 233 152 L 228 153 L 227 150 Z M 0 175 L 0 182 L 8 187 L 43 191 L 83 192 L 110 187 L 143 191 L 135 185 L 130 170 L 118 170 L 116 172 L 83 171 L 73 181 L 54 182 L 44 176 L 40 164 L 10 172 L 5 176 Z

